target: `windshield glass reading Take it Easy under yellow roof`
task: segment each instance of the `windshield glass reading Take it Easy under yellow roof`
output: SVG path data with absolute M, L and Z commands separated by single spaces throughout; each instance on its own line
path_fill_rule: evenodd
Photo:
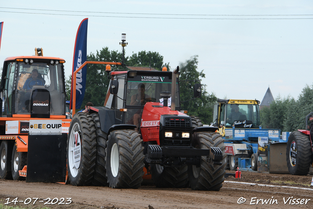
M 227 104 L 225 127 L 230 128 L 259 128 L 259 106 L 256 104 Z

